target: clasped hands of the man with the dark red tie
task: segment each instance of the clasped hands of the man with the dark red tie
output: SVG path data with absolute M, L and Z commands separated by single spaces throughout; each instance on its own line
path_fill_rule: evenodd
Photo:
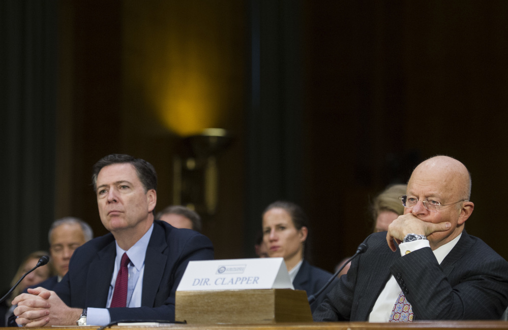
M 42 287 L 28 289 L 13 301 L 16 323 L 28 327 L 52 325 L 76 325 L 82 309 L 70 308 L 54 291 Z

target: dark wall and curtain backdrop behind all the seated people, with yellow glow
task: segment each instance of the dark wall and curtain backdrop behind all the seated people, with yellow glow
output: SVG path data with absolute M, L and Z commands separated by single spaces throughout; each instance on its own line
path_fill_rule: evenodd
M 372 197 L 436 154 L 469 169 L 466 229 L 506 258 L 507 18 L 481 0 L 0 2 L 3 287 L 54 219 L 105 234 L 98 159 L 154 164 L 161 210 L 182 138 L 207 127 L 233 137 L 202 214 L 218 259 L 254 256 L 262 210 L 287 199 L 332 271 Z

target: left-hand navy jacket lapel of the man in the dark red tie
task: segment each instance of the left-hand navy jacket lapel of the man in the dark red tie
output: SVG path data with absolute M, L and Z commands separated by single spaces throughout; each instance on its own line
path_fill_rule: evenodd
M 86 280 L 88 282 L 88 288 L 93 287 L 94 289 L 88 289 L 86 292 L 86 306 L 97 308 L 106 307 L 115 256 L 116 248 L 113 240 L 97 253 L 97 258 L 90 264 Z

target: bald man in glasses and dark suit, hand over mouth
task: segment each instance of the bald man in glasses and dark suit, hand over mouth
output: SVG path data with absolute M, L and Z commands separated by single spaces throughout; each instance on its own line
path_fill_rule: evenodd
M 499 319 L 508 305 L 508 262 L 464 223 L 470 176 L 446 156 L 413 171 L 404 214 L 364 243 L 347 276 L 313 313 L 316 321 Z

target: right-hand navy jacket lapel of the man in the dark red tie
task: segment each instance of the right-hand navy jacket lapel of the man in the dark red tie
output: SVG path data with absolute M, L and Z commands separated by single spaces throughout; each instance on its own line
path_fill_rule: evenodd
M 153 307 L 155 304 L 155 297 L 166 266 L 167 249 L 165 230 L 157 223 L 154 223 L 154 230 L 144 258 L 141 306 Z

